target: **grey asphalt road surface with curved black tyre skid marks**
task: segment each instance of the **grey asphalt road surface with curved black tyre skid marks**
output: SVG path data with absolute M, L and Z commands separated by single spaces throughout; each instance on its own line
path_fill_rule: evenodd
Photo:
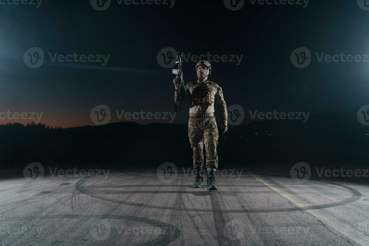
M 223 170 L 217 191 L 182 168 L 3 173 L 0 245 L 369 245 L 367 177 L 281 166 Z

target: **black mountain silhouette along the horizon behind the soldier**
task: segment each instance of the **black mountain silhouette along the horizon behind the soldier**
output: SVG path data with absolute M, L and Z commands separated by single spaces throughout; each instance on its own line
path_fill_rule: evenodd
M 366 135 L 367 134 L 367 135 Z M 44 124 L 0 125 L 0 168 L 44 166 L 158 167 L 165 162 L 192 167 L 185 124 L 116 122 L 103 126 L 51 129 Z M 301 120 L 266 120 L 239 125 L 219 135 L 219 165 L 293 160 L 368 160 L 369 127 L 355 111 L 310 115 Z

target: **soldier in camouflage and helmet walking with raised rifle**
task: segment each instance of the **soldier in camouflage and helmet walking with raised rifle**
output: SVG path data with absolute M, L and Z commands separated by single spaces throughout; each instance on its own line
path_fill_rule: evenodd
M 218 128 L 214 117 L 214 101 L 221 115 L 223 134 L 227 131 L 227 105 L 223 91 L 218 84 L 208 80 L 211 74 L 210 62 L 200 60 L 196 64 L 197 81 L 178 87 L 180 77 L 173 80 L 175 84 L 175 98 L 182 96 L 182 102 L 190 98 L 190 119 L 188 122 L 188 136 L 193 149 L 193 168 L 196 171 L 194 188 L 203 185 L 202 168 L 204 166 L 203 146 L 206 149 L 207 190 L 217 190 L 214 172 L 218 168 Z M 178 97 L 177 97 L 178 95 Z M 179 104 L 179 101 L 175 102 Z

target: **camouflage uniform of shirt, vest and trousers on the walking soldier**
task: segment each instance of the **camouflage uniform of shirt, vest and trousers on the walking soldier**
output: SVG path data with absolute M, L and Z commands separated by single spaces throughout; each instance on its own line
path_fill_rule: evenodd
M 218 168 L 218 127 L 214 117 L 214 102 L 220 111 L 222 122 L 227 124 L 227 104 L 224 101 L 223 91 L 218 84 L 212 81 L 188 83 L 175 91 L 182 96 L 182 102 L 190 98 L 190 119 L 188 123 L 188 136 L 193 149 L 193 168 L 204 166 L 203 146 L 206 150 L 206 168 Z M 179 102 L 176 102 L 177 104 Z M 194 115 L 203 114 L 203 118 Z

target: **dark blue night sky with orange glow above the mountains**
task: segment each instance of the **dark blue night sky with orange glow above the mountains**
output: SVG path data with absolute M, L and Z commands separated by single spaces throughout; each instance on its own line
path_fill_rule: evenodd
M 113 111 L 111 122 L 120 121 L 115 110 L 173 112 L 175 76 L 157 61 L 166 47 L 186 55 L 243 55 L 239 65 L 212 62 L 209 78 L 223 88 L 228 106 L 244 108 L 246 119 L 248 110 L 313 115 L 369 104 L 369 62 L 318 62 L 315 55 L 369 54 L 369 11 L 356 1 L 310 0 L 303 8 L 246 0 L 238 11 L 228 10 L 223 0 L 177 0 L 172 8 L 168 3 L 112 0 L 103 11 L 87 0 L 44 0 L 38 8 L 1 4 L 0 112 L 43 112 L 41 122 L 63 128 L 94 125 L 90 111 L 99 104 Z M 38 68 L 23 60 L 32 47 L 45 54 Z M 302 69 L 290 61 L 299 47 L 312 56 Z M 110 56 L 103 66 L 51 62 L 49 52 Z M 186 83 L 196 80 L 195 64 L 184 63 Z M 173 123 L 185 123 L 188 108 L 186 103 Z

